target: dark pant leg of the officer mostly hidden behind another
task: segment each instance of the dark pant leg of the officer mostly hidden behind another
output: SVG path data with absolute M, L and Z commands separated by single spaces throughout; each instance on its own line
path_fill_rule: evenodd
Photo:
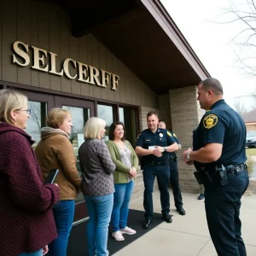
M 172 193 L 174 197 L 175 207 L 178 209 L 183 206 L 183 197 L 181 195 L 181 190 L 179 186 L 179 178 L 178 178 L 178 170 L 177 170 L 177 162 L 173 161 L 170 163 L 170 172 L 171 172 L 171 185 L 172 185 Z

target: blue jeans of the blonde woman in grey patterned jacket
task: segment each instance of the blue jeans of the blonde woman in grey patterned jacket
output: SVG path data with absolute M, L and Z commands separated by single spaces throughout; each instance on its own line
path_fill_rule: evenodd
M 84 195 L 89 212 L 87 242 L 89 256 L 107 256 L 108 225 L 113 209 L 113 194 L 102 196 Z

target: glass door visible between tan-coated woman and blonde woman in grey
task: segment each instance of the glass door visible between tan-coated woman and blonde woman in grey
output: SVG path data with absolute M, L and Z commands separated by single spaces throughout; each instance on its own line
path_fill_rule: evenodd
M 79 165 L 79 147 L 84 143 L 84 124 L 91 117 L 95 116 L 95 103 L 74 99 L 64 96 L 55 96 L 55 107 L 67 109 L 72 116 L 73 130 L 70 135 L 70 141 L 73 144 L 73 152 L 78 159 L 77 169 L 80 173 Z M 76 208 L 74 222 L 79 222 L 88 217 L 88 211 L 84 202 L 84 196 L 81 193 L 76 199 Z

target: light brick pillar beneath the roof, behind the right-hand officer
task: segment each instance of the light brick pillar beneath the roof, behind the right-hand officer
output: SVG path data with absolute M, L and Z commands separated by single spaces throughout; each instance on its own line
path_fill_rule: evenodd
M 192 147 L 192 131 L 199 124 L 204 111 L 201 110 L 197 97 L 197 86 L 169 90 L 172 130 L 182 143 L 182 150 L 177 152 L 180 185 L 183 192 L 199 193 L 199 184 L 193 172 L 194 166 L 187 166 L 181 159 L 181 153 Z

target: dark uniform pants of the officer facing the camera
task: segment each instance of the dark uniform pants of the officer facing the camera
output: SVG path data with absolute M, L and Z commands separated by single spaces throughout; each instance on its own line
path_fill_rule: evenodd
M 166 215 L 170 212 L 170 195 L 168 190 L 170 178 L 169 163 L 162 166 L 143 166 L 143 181 L 144 181 L 144 200 L 143 206 L 145 209 L 145 218 L 153 218 L 153 199 L 152 193 L 154 188 L 154 179 L 157 178 L 160 189 L 160 202 L 162 207 L 162 214 Z

